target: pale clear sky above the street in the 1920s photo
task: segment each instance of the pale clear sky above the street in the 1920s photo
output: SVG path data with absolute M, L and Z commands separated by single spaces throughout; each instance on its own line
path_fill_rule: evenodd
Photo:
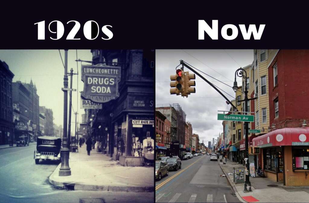
M 64 50 L 60 50 L 64 63 Z M 90 50 L 77 50 L 77 58 L 91 61 Z M 37 94 L 40 97 L 40 106 L 53 110 L 54 123 L 63 125 L 63 76 L 64 67 L 61 61 L 59 50 L 0 50 L 0 60 L 5 61 L 10 70 L 14 73 L 13 82 L 20 80 L 22 83 L 36 84 Z M 68 51 L 68 72 L 73 68 L 77 72 L 76 50 Z M 85 63 L 83 64 L 90 64 Z M 78 72 L 81 71 L 81 62 L 78 62 Z M 73 88 L 83 91 L 81 75 L 73 75 Z M 69 76 L 70 86 L 70 76 Z M 78 95 L 77 95 L 78 94 Z M 78 108 L 78 121 L 82 121 L 84 109 L 80 109 L 80 93 L 73 91 L 72 106 L 74 111 Z M 78 99 L 78 101 L 77 101 Z M 68 96 L 69 103 L 69 96 Z M 72 111 L 72 131 L 75 129 L 75 116 Z

